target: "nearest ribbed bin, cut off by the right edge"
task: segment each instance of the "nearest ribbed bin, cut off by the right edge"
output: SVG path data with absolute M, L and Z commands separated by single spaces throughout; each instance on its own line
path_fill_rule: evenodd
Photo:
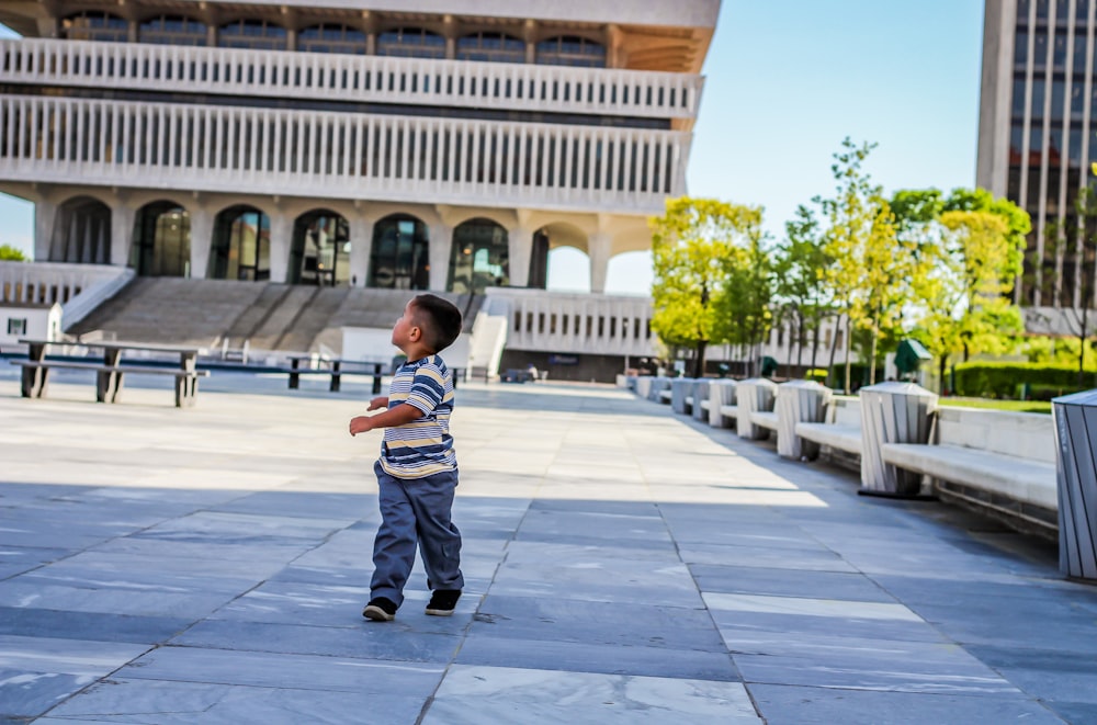
M 1059 489 L 1059 569 L 1097 581 L 1097 389 L 1053 398 Z

